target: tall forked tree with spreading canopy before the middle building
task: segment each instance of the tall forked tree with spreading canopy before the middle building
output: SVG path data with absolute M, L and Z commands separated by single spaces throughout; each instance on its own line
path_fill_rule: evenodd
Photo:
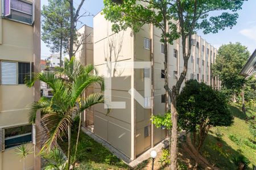
M 171 98 L 172 130 L 171 133 L 171 169 L 177 169 L 177 105 L 180 87 L 188 70 L 188 59 L 191 56 L 192 35 L 198 29 L 204 33 L 217 33 L 226 27 L 232 28 L 238 18 L 237 10 L 241 9 L 244 0 L 104 0 L 105 18 L 113 23 L 115 32 L 128 27 L 138 32 L 144 24 L 152 24 L 162 31 L 164 44 L 164 88 Z M 212 11 L 221 11 L 217 16 L 209 16 Z M 173 21 L 173 22 L 172 22 Z M 181 37 L 183 70 L 175 86 L 168 86 L 168 50 L 167 44 Z M 188 42 L 187 48 L 186 43 Z M 168 98 L 168 97 L 167 97 Z

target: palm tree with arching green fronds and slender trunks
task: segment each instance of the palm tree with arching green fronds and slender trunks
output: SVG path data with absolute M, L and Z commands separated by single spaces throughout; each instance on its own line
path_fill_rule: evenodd
M 104 103 L 104 95 L 94 93 L 85 99 L 81 94 L 92 84 L 99 84 L 104 90 L 104 79 L 94 74 L 94 66 L 82 66 L 74 57 L 71 61 L 64 62 L 64 68 L 54 72 L 44 72 L 35 75 L 33 80 L 27 81 L 27 86 L 31 87 L 35 80 L 40 80 L 52 88 L 52 98 L 42 97 L 39 101 L 32 104 L 28 119 L 31 123 L 35 122 L 36 111 L 41 111 L 42 122 L 47 127 L 47 141 L 43 143 L 42 150 L 56 147 L 57 140 L 63 139 L 63 134 L 68 136 L 68 167 L 71 158 L 71 126 L 72 117 L 80 114 L 94 104 Z M 80 131 L 81 123 L 79 124 Z M 77 144 L 79 133 L 77 135 Z M 77 150 L 77 147 L 76 147 Z M 76 151 L 75 151 L 76 153 Z

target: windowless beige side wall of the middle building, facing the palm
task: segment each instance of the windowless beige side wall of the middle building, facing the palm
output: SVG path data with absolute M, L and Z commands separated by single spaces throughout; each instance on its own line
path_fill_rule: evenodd
M 126 102 L 126 109 L 112 109 L 108 116 L 103 104 L 94 107 L 94 133 L 118 148 L 123 154 L 133 158 L 131 126 L 134 125 L 132 123 L 134 102 L 128 93 L 133 84 L 133 71 L 117 69 L 114 73 L 105 64 L 106 61 L 111 61 L 114 67 L 115 63 L 132 61 L 133 36 L 130 29 L 114 34 L 111 31 L 111 24 L 106 22 L 104 16 L 100 14 L 94 16 L 93 23 L 94 65 L 98 74 L 108 73 L 112 76 L 112 101 Z M 99 91 L 99 88 L 95 87 L 95 91 Z

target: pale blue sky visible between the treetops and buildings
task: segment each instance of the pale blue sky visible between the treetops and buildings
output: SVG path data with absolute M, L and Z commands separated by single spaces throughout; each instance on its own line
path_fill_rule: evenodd
M 75 0 L 75 7 L 78 6 L 80 0 Z M 42 0 L 42 6 L 47 5 L 48 0 Z M 242 45 L 247 46 L 250 53 L 256 49 L 256 0 L 245 1 L 242 6 L 242 10 L 238 11 L 239 18 L 237 24 L 232 28 L 226 28 L 224 31 L 218 33 L 209 33 L 204 35 L 202 31 L 198 31 L 197 34 L 203 39 L 207 40 L 211 45 L 219 48 L 222 44 L 228 44 L 229 42 L 241 42 Z M 104 8 L 103 0 L 85 0 L 84 5 L 81 8 L 80 14 L 83 12 L 90 12 L 90 14 L 96 15 Z M 81 23 L 77 24 L 77 28 L 80 28 L 83 24 L 93 27 L 93 16 L 86 16 L 81 18 Z M 42 43 L 42 58 L 46 58 L 51 54 L 46 44 Z

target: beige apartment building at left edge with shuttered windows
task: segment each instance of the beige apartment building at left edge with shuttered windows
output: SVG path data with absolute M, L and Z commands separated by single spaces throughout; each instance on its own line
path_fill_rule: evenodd
M 26 169 L 39 169 L 35 129 L 40 125 L 28 124 L 28 112 L 40 97 L 40 83 L 28 88 L 24 78 L 40 71 L 40 0 L 0 0 L 0 4 L 0 170 L 23 169 L 15 154 L 23 143 L 32 152 Z

